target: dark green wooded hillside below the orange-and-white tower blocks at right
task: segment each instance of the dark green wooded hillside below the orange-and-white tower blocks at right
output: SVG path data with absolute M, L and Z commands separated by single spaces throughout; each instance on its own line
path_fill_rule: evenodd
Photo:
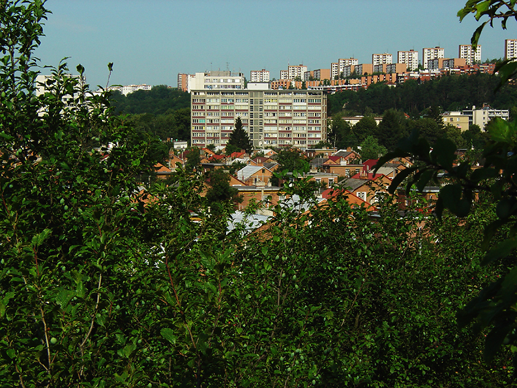
M 472 109 L 488 103 L 491 108 L 508 109 L 517 106 L 517 88 L 507 85 L 494 92 L 499 77 L 491 74 L 442 76 L 425 81 L 409 80 L 392 87 L 384 83 L 370 85 L 357 92 L 345 91 L 328 96 L 329 115 L 338 112 L 349 115 L 378 114 L 389 109 L 405 112 L 412 117 L 425 116 L 427 110 L 439 107 L 442 112 Z

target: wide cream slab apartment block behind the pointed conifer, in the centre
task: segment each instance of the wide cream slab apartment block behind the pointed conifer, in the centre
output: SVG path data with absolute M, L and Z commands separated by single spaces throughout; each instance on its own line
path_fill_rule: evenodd
M 193 90 L 191 144 L 225 145 L 241 117 L 254 147 L 311 147 L 327 140 L 327 96 L 314 90 Z

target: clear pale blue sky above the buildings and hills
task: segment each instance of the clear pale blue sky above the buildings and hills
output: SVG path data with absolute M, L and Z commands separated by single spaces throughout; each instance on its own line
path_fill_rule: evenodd
M 458 57 L 470 43 L 474 17 L 459 23 L 466 0 L 48 0 L 52 11 L 37 50 L 42 65 L 64 57 L 86 69 L 90 85 L 176 86 L 179 72 L 270 70 L 287 63 L 330 68 L 338 58 L 371 63 L 373 53 L 440 45 Z M 517 23 L 485 28 L 483 59 L 504 56 Z M 43 70 L 45 72 L 45 70 Z

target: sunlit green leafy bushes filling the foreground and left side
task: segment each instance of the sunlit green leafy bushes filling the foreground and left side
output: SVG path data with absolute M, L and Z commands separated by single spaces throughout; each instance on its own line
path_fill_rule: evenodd
M 284 194 L 310 212 L 287 200 L 261 229 L 229 232 L 231 204 L 210 212 L 199 173 L 140 190 L 148 141 L 64 64 L 35 96 L 47 11 L 5 7 L 1 386 L 508 384 L 508 355 L 480 363 L 454 315 L 505 270 L 479 265 L 490 198 L 462 221 L 436 223 L 418 198 L 405 216 L 387 198 L 372 217 L 343 195 L 316 205 L 295 179 Z

